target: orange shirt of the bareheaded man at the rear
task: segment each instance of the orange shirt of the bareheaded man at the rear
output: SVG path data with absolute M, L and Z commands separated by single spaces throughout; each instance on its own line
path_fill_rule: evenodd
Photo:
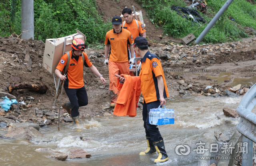
M 124 22 L 122 22 L 122 25 L 123 25 Z M 128 31 L 130 31 L 130 33 L 132 34 L 132 37 L 135 39 L 136 37 L 139 36 L 140 33 L 146 32 L 146 29 L 145 29 L 144 25 L 140 21 L 138 21 L 138 25 L 139 25 L 139 29 L 138 29 L 138 26 L 136 24 L 136 21 L 132 20 L 131 23 L 126 23 L 125 22 L 124 29 L 127 29 Z

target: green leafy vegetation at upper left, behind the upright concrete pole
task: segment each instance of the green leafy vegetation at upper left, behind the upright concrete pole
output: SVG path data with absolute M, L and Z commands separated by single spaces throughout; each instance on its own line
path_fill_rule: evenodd
M 0 20 L 0 36 L 19 35 L 21 0 L 16 6 L 10 0 L 0 1 Z M 104 41 L 111 24 L 98 15 L 96 0 L 34 0 L 34 28 L 36 40 L 63 37 L 78 29 L 86 35 L 87 43 L 98 43 Z

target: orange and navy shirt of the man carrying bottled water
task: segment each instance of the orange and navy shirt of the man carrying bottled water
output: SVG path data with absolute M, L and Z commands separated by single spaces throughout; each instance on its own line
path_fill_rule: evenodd
M 141 60 L 140 78 L 141 78 L 141 93 L 146 103 L 159 100 L 159 89 L 157 76 L 162 76 L 164 80 L 164 98 L 169 97 L 164 71 L 159 58 L 151 54 L 149 51 Z

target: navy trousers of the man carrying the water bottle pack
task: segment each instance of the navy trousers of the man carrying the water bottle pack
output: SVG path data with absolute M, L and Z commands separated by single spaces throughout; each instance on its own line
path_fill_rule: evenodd
M 160 105 L 160 101 L 146 103 L 144 100 L 143 109 L 142 109 L 142 119 L 144 121 L 144 128 L 146 132 L 146 137 L 150 137 L 151 141 L 156 142 L 159 139 L 162 139 L 161 134 L 157 128 L 157 125 L 150 125 L 148 114 L 150 109 L 157 108 Z M 161 106 L 162 107 L 162 106 Z

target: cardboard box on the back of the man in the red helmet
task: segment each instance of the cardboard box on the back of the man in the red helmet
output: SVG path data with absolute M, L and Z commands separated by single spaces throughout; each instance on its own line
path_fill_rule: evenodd
M 85 41 L 85 37 L 79 33 L 73 34 L 75 39 L 79 38 Z M 71 43 L 73 41 L 72 36 L 66 36 L 66 48 L 65 52 L 72 50 Z M 51 74 L 54 73 L 58 63 L 60 62 L 60 58 L 62 57 L 62 51 L 64 46 L 64 37 L 58 39 L 46 39 L 45 48 L 44 48 L 44 59 L 43 66 L 48 70 Z

